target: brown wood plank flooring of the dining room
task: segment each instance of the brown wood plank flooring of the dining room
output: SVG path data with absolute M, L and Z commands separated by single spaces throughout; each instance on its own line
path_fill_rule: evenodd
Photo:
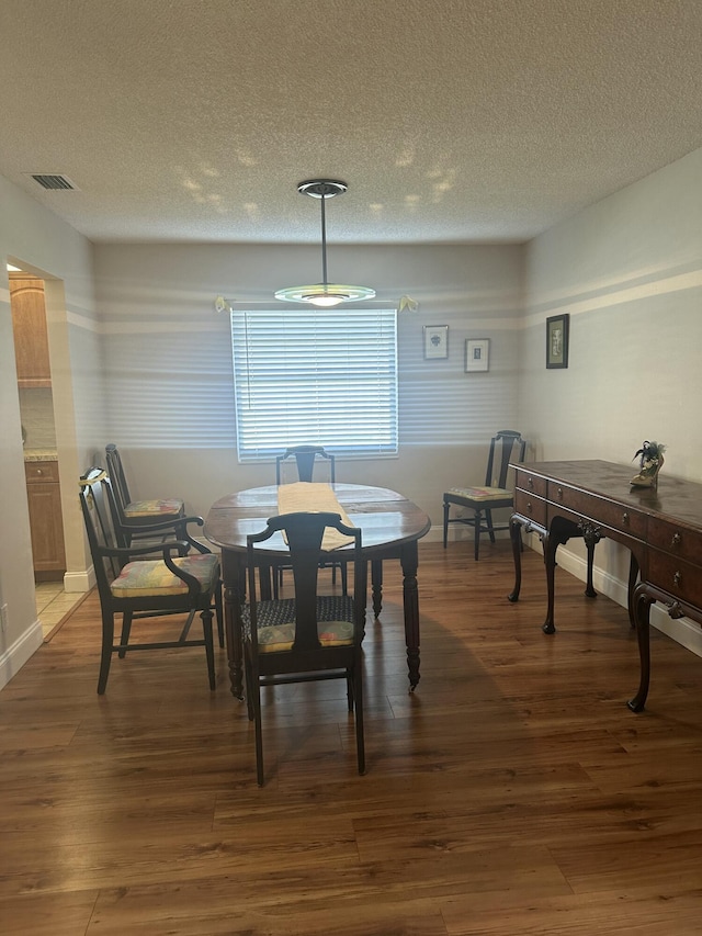
M 12 936 L 702 933 L 702 659 L 654 632 L 647 710 L 624 609 L 524 553 L 420 544 L 421 681 L 401 580 L 366 653 L 367 773 L 341 684 L 246 706 L 200 650 L 114 658 L 99 605 L 0 692 L 0 932 Z M 135 625 L 136 627 L 136 625 Z

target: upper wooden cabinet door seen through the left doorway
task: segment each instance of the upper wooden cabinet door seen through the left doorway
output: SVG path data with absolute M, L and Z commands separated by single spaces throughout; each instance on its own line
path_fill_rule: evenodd
M 48 334 L 42 280 L 10 280 L 14 356 L 20 386 L 50 386 Z

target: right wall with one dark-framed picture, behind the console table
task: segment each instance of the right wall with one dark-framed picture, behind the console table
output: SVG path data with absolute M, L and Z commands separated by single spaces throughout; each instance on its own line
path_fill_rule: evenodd
M 667 446 L 664 472 L 702 482 L 702 150 L 531 241 L 525 309 L 519 421 L 536 460 L 634 470 L 648 439 Z M 570 315 L 569 364 L 546 370 L 544 323 L 558 313 Z M 582 574 L 581 544 L 562 553 Z M 596 565 L 622 601 L 625 550 L 601 543 Z M 652 620 L 701 649 L 699 628 L 661 618 Z

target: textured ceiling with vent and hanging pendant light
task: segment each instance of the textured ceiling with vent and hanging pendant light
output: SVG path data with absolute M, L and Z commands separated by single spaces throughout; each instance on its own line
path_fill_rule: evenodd
M 702 0 L 0 0 L 0 173 L 93 240 L 525 240 L 702 146 Z M 63 173 L 45 192 L 27 173 Z

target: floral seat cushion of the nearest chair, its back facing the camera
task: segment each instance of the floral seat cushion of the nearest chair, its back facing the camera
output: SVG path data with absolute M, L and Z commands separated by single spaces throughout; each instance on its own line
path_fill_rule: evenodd
M 295 640 L 295 599 L 259 601 L 257 633 L 259 653 L 282 653 Z M 250 634 L 249 606 L 242 609 L 244 629 Z M 353 643 L 353 599 L 325 596 L 317 599 L 317 635 L 322 646 L 349 646 Z

